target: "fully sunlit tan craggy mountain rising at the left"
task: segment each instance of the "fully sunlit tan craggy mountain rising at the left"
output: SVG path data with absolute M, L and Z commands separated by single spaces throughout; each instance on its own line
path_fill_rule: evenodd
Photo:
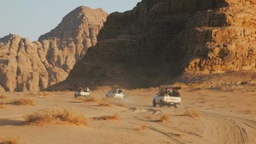
M 39 91 L 66 79 L 106 21 L 103 9 L 77 7 L 38 41 L 19 35 L 0 39 L 1 91 Z

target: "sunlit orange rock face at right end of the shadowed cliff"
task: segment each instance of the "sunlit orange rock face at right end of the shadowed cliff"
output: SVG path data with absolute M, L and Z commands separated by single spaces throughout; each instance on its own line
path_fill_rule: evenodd
M 209 20 L 216 17 L 213 13 L 223 15 L 225 19 L 222 23 L 215 27 L 200 25 L 190 31 L 194 33 L 189 35 L 190 37 L 201 39 L 203 37 L 198 35 L 202 33 L 207 37 L 205 37 L 206 41 L 200 43 L 201 47 L 197 47 L 196 43 L 189 46 L 185 71 L 225 73 L 256 69 L 256 3 L 245 0 L 226 2 L 227 7 L 216 9 L 216 12 L 207 11 L 205 14 L 208 15 Z M 187 32 L 189 31 L 185 33 Z

